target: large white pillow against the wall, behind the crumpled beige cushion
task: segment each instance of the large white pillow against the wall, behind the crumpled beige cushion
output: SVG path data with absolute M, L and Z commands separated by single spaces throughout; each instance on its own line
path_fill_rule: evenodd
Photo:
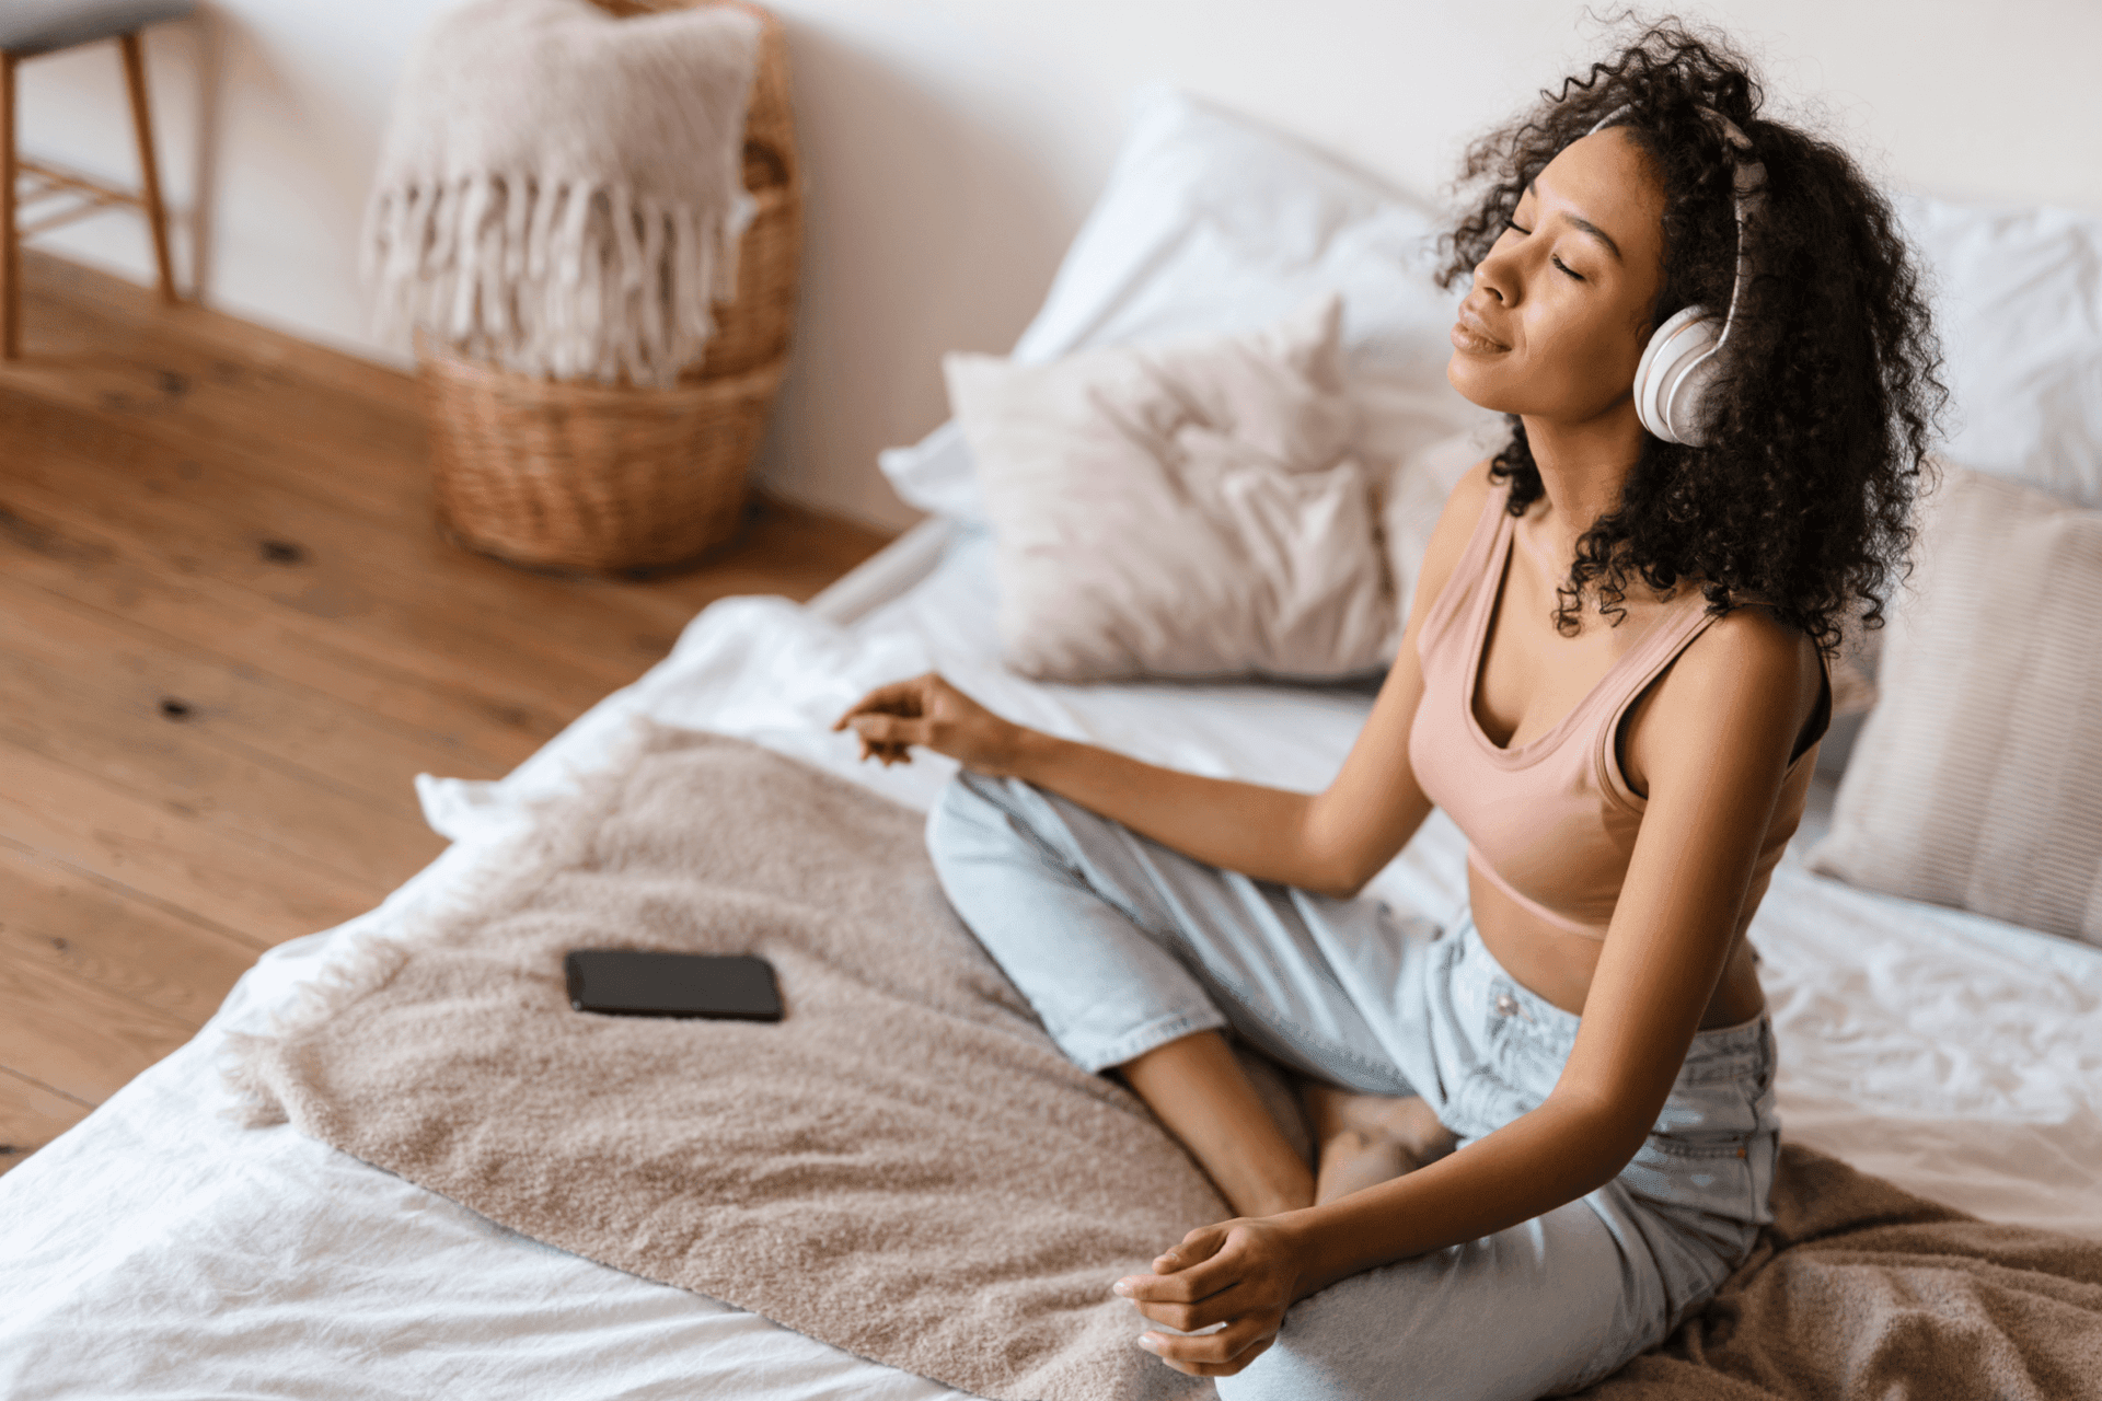
M 1431 281 L 1436 242 L 1431 214 L 1379 181 L 1270 126 L 1146 88 L 1013 359 L 1253 330 L 1341 292 L 1356 452 L 1394 462 L 1484 418 L 1444 378 L 1459 292 Z M 908 504 L 984 519 L 952 422 L 877 462 Z

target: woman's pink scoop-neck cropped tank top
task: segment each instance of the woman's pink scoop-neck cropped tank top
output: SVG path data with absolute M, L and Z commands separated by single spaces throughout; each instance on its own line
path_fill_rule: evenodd
M 1509 487 L 1505 479 L 1490 489 L 1465 555 L 1417 634 L 1423 699 L 1408 729 L 1408 762 L 1423 794 L 1467 836 L 1467 865 L 1555 928 L 1604 939 L 1648 804 L 1621 775 L 1614 752 L 1621 716 L 1713 615 L 1701 592 L 1688 588 L 1560 725 L 1518 748 L 1492 744 L 1476 718 L 1474 695 L 1516 538 L 1518 517 L 1505 508 Z M 1827 676 L 1816 737 L 1829 718 Z M 1738 935 L 1801 821 L 1812 746 L 1804 744 L 1782 779 Z

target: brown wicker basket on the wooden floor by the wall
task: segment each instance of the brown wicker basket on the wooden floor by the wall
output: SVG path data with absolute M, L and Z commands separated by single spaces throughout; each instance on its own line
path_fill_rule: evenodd
M 710 0 L 595 0 L 616 15 Z M 759 212 L 738 244 L 736 300 L 698 370 L 671 389 L 542 380 L 418 347 L 437 519 L 458 544 L 519 565 L 637 571 L 736 534 L 746 468 L 788 365 L 803 193 L 780 21 L 761 17 L 744 118 L 744 187 Z

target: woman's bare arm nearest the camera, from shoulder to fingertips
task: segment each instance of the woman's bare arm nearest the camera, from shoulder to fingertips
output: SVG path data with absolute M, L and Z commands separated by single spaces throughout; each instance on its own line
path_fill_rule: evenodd
M 1715 991 L 1789 752 L 1816 704 L 1806 639 L 1759 609 L 1682 653 L 1644 723 L 1650 800 L 1547 1101 L 1427 1168 L 1265 1220 L 1192 1231 L 1156 1275 L 1122 1281 L 1183 1369 L 1238 1369 L 1272 1311 L 1377 1264 L 1480 1239 L 1610 1183 L 1642 1147 Z M 1268 1332 L 1265 1332 L 1268 1327 Z M 1246 1357 L 1242 1357 L 1246 1353 Z

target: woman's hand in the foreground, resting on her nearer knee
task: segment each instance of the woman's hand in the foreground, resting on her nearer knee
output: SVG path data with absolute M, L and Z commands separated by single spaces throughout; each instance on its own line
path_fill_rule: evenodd
M 1242 1216 L 1192 1231 L 1152 1275 L 1118 1279 L 1116 1292 L 1186 1334 L 1225 1323 L 1194 1338 L 1148 1332 L 1139 1346 L 1190 1376 L 1234 1376 L 1278 1340 L 1301 1277 L 1299 1235 L 1276 1216 Z

